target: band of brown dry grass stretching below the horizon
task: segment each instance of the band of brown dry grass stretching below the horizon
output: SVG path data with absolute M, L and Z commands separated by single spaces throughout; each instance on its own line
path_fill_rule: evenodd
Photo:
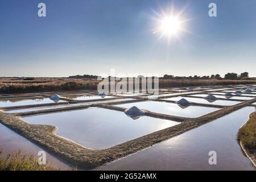
M 76 78 L 0 78 L 0 93 L 48 92 L 65 90 L 96 90 L 100 81 Z M 167 80 L 159 79 L 159 88 L 177 86 L 253 84 L 256 80 Z

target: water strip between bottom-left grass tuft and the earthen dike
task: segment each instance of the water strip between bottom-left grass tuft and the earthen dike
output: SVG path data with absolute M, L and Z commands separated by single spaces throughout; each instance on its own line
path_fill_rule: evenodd
M 38 158 L 38 152 L 43 151 L 42 148 L 31 143 L 26 138 L 16 134 L 14 131 L 8 129 L 6 126 L 0 123 L 0 150 L 3 151 L 3 155 L 9 154 L 11 151 L 26 151 L 28 154 L 34 155 Z M 67 170 L 71 168 L 67 164 L 61 162 L 59 159 L 48 154 L 46 152 L 47 161 L 57 169 Z

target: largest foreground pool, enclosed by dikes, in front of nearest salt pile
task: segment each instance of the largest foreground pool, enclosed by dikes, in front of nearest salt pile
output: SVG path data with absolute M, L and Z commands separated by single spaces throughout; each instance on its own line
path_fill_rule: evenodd
M 134 120 L 121 111 L 102 108 L 35 115 L 23 120 L 56 126 L 57 135 L 94 149 L 109 148 L 179 124 L 146 116 Z

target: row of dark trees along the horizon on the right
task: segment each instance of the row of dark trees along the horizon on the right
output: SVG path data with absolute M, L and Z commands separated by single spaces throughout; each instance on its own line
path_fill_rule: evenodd
M 216 79 L 216 80 L 246 80 L 249 79 L 249 73 L 243 72 L 240 75 L 237 73 L 226 73 L 224 78 L 222 78 L 219 74 L 211 75 L 211 76 L 173 76 L 173 75 L 164 75 L 163 79 L 173 79 L 173 80 L 183 80 L 183 79 L 189 79 L 189 80 L 210 80 L 210 79 Z

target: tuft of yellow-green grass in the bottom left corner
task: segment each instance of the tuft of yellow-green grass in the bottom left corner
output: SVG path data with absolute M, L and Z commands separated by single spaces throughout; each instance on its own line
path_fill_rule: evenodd
M 26 152 L 18 151 L 11 152 L 7 156 L 0 151 L 0 171 L 55 171 L 53 166 L 39 165 L 38 160 L 27 154 Z

